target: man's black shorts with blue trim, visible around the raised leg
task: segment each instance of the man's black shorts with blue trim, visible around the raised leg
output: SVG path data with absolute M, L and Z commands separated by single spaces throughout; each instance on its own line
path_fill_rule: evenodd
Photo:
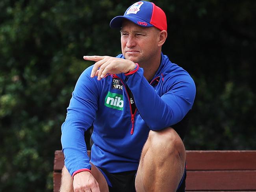
M 137 170 L 120 173 L 109 173 L 106 169 L 97 166 L 100 172 L 104 175 L 109 192 L 136 192 L 135 191 L 135 177 Z M 183 177 L 178 186 L 177 192 L 185 192 L 186 184 L 186 168 Z

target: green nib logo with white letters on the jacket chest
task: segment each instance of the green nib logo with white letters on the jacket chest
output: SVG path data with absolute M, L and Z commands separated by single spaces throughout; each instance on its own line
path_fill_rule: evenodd
M 122 111 L 124 107 L 124 100 L 122 95 L 108 92 L 105 98 L 105 106 Z

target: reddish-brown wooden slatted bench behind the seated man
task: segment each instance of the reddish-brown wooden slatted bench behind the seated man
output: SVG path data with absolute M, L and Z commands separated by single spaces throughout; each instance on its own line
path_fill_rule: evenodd
M 256 150 L 186 151 L 186 191 L 256 191 Z M 54 192 L 59 191 L 62 151 L 55 151 Z

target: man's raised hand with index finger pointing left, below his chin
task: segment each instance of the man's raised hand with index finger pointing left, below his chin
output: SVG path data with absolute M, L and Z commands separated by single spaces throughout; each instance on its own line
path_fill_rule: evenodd
M 87 61 L 95 61 L 91 71 L 91 78 L 98 76 L 98 80 L 104 78 L 107 74 L 128 73 L 135 69 L 134 62 L 128 59 L 121 59 L 109 56 L 83 56 Z

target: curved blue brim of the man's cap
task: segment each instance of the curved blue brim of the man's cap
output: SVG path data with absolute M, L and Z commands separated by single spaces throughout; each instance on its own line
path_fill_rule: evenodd
M 117 17 L 114 17 L 111 20 L 109 26 L 111 28 L 121 28 L 122 27 L 123 19 L 128 19 L 131 22 L 134 22 L 138 26 L 142 26 L 142 27 L 152 27 L 153 26 L 149 22 L 147 22 L 147 21 L 145 21 L 145 20 L 143 20 L 141 18 L 135 17 L 135 16 L 117 16 Z M 141 24 L 139 24 L 139 22 L 141 22 Z

